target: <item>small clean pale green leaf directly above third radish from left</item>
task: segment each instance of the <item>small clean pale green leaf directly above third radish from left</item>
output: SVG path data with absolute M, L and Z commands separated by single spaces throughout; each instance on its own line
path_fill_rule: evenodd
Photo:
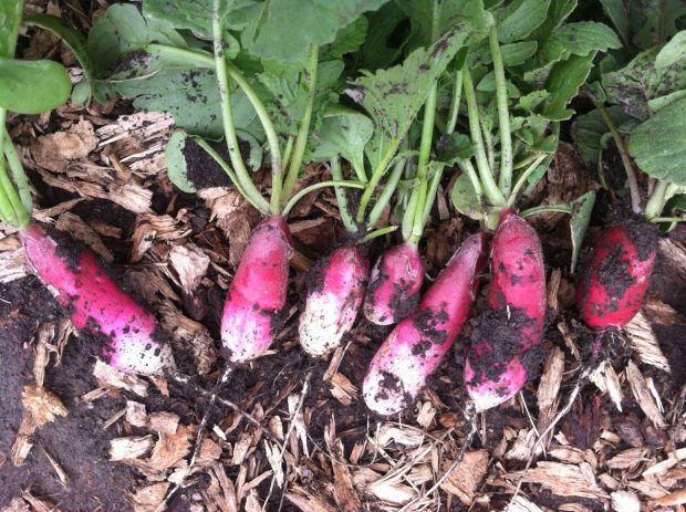
M 364 147 L 372 138 L 374 124 L 364 114 L 342 105 L 329 107 L 322 119 L 314 160 L 342 156 L 364 174 Z

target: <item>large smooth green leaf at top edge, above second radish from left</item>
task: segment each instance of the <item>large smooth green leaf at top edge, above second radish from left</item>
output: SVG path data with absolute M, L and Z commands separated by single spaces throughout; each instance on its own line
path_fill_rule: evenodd
M 331 43 L 339 30 L 386 1 L 337 0 L 332 8 L 326 1 L 271 0 L 250 51 L 267 60 L 304 62 L 310 44 Z

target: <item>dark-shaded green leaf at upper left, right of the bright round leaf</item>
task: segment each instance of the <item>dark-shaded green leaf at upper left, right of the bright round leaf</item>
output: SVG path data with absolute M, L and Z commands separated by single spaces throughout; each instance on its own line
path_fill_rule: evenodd
M 96 76 L 114 71 L 119 59 L 149 43 L 185 48 L 186 42 L 168 24 L 144 19 L 132 4 L 115 3 L 89 32 L 86 43 Z

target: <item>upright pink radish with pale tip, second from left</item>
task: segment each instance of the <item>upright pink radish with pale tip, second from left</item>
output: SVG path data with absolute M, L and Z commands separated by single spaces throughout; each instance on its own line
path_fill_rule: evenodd
M 282 218 L 270 217 L 252 230 L 221 318 L 221 341 L 230 362 L 254 359 L 274 341 L 282 325 L 291 252 L 290 230 Z

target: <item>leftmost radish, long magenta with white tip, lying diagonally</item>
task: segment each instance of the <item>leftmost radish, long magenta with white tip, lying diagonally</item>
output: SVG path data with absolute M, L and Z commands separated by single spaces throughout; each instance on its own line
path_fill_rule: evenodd
M 71 309 L 74 325 L 106 337 L 106 362 L 142 375 L 159 376 L 176 367 L 155 317 L 117 286 L 93 252 L 72 251 L 66 236 L 39 224 L 19 236 L 33 272 Z

